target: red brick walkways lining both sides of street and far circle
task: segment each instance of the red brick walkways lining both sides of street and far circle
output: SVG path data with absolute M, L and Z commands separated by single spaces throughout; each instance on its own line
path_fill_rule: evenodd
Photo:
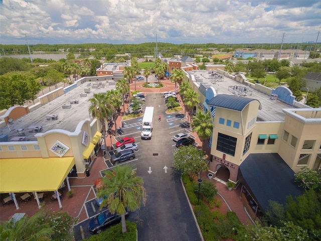
M 155 93 L 155 92 L 165 92 L 165 91 L 173 91 L 175 90 L 175 83 L 171 83 L 169 80 L 162 80 L 162 83 L 165 84 L 163 88 L 144 88 L 142 87 L 143 82 L 136 82 L 136 90 L 140 90 L 148 95 L 148 93 Z M 133 91 L 135 89 L 134 83 L 130 84 L 130 90 Z M 125 106 L 126 108 L 126 106 Z M 123 108 L 121 108 L 123 111 Z M 182 110 L 184 113 L 184 110 Z M 117 117 L 116 124 L 117 127 L 121 126 L 123 112 Z M 115 126 L 113 126 L 113 129 Z M 114 131 L 114 130 L 113 130 Z M 196 133 L 193 133 L 193 136 L 197 137 Z M 107 147 L 110 142 L 107 137 Z M 113 137 L 111 138 L 112 143 L 116 143 L 116 139 Z M 200 143 L 198 146 L 199 148 L 202 147 L 202 142 L 197 137 L 196 142 Z M 205 151 L 210 155 L 210 150 L 208 145 L 206 145 Z M 67 211 L 73 217 L 79 217 L 80 221 L 85 220 L 88 218 L 88 214 L 84 208 L 84 203 L 95 198 L 93 184 L 94 181 L 101 177 L 100 171 L 105 170 L 107 168 L 104 158 L 102 157 L 102 152 L 98 153 L 98 156 L 91 164 L 90 167 L 90 176 L 85 178 L 69 178 L 71 188 L 74 189 L 74 195 L 72 198 L 67 197 L 66 192 L 67 188 L 63 192 L 63 198 L 61 200 L 62 203 L 62 210 Z M 206 179 L 207 173 L 201 173 L 201 178 Z M 231 208 L 232 211 L 236 212 L 238 217 L 240 218 L 241 222 L 246 224 L 250 222 L 249 216 L 246 214 L 244 210 L 244 205 L 240 198 L 240 187 L 236 190 L 228 191 L 225 184 L 218 182 L 217 180 L 212 179 L 212 182 L 216 184 L 219 194 L 223 197 L 225 202 Z M 58 201 L 52 201 L 50 199 L 53 192 L 46 192 L 47 196 L 44 197 L 43 202 L 45 206 L 53 211 L 58 211 L 59 205 Z M 1 194 L 0 199 L 2 200 L 8 194 Z M 22 195 L 22 194 L 21 194 Z M 20 193 L 17 193 L 17 196 L 20 196 Z M 39 210 L 36 200 L 33 197 L 28 202 L 19 203 L 20 209 L 17 210 L 14 204 L 5 204 L 0 206 L 0 220 L 6 221 L 17 212 L 25 212 L 27 215 L 32 216 L 37 210 Z

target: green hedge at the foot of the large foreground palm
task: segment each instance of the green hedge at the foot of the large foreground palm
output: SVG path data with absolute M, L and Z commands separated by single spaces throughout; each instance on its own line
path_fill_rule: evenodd
M 97 235 L 92 235 L 84 240 L 87 241 L 136 241 L 137 226 L 134 222 L 126 221 L 127 232 L 122 233 L 121 222 L 102 231 Z

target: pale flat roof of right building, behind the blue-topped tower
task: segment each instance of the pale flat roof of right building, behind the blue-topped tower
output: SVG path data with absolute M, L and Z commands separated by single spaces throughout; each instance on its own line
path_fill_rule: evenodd
M 283 122 L 285 113 L 282 109 L 295 108 L 293 105 L 287 104 L 280 100 L 271 100 L 271 95 L 250 88 L 250 86 L 237 82 L 222 74 L 218 74 L 221 78 L 215 79 L 209 72 L 212 72 L 212 70 L 193 70 L 188 71 L 188 74 L 194 75 L 195 81 L 197 81 L 198 85 L 203 84 L 206 87 L 213 87 L 217 94 L 234 95 L 233 86 L 237 86 L 237 88 L 234 89 L 235 92 L 237 92 L 238 89 L 248 88 L 251 92 L 244 95 L 243 97 L 257 99 L 262 106 L 262 108 L 259 109 L 257 113 L 257 122 Z M 217 72 L 214 71 L 214 73 Z

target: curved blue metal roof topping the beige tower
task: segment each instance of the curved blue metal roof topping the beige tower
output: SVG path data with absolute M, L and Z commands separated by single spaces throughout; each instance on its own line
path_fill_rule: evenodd
M 245 108 L 245 106 L 251 101 L 258 101 L 258 100 L 239 97 L 235 95 L 229 95 L 229 94 L 218 94 L 215 97 L 213 97 L 207 104 L 212 106 L 242 111 Z M 260 104 L 259 109 L 261 109 L 261 103 L 260 101 L 258 102 Z

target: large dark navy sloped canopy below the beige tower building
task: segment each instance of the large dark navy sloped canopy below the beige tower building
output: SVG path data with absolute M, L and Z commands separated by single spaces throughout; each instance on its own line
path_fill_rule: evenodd
M 285 204 L 287 196 L 303 194 L 294 172 L 277 153 L 250 154 L 239 167 L 239 179 L 262 211 L 269 206 L 269 200 Z

